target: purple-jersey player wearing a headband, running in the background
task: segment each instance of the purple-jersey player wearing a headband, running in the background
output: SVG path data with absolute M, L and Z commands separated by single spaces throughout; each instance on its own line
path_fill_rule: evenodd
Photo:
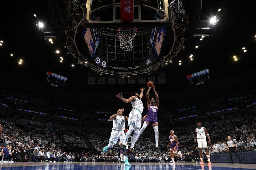
M 178 137 L 176 137 L 176 135 L 174 135 L 173 130 L 170 131 L 169 140 L 170 140 L 170 142 L 167 145 L 167 148 L 170 147 L 170 156 L 171 156 L 171 159 L 172 159 L 172 164 L 175 164 L 173 156 L 178 155 L 177 151 L 179 150 L 178 149 L 179 140 L 178 140 Z

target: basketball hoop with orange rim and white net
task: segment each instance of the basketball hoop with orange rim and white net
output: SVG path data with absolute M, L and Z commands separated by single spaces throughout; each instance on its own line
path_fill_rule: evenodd
M 132 49 L 132 40 L 138 33 L 136 27 L 133 28 L 117 28 L 117 36 L 120 40 L 120 48 L 124 51 L 130 51 Z

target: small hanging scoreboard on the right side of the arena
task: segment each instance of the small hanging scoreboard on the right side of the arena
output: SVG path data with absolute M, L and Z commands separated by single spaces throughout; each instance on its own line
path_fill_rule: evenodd
M 187 76 L 190 85 L 201 85 L 210 79 L 209 69 L 205 69 Z

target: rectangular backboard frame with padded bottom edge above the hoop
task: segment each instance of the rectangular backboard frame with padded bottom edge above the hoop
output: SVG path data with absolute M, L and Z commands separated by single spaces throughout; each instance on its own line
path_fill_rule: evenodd
M 143 19 L 143 17 L 141 16 L 142 19 L 140 19 L 140 20 L 133 20 L 133 18 L 130 18 L 129 20 L 132 19 L 131 22 L 123 22 L 121 19 L 120 20 L 112 19 L 112 15 L 110 15 L 110 13 L 108 13 L 108 12 L 103 12 L 102 16 L 97 16 L 97 14 L 98 14 L 97 12 L 104 11 L 109 8 L 111 8 L 114 11 L 113 6 L 121 5 L 120 2 L 119 3 L 115 3 L 115 2 L 116 1 L 113 1 L 113 4 L 109 4 L 109 5 L 102 5 L 100 7 L 94 7 L 94 6 L 92 6 L 92 0 L 87 0 L 86 1 L 87 11 L 86 11 L 86 16 L 84 16 L 85 23 L 83 23 L 83 26 L 86 28 L 118 28 L 118 27 L 137 27 L 138 28 L 138 27 L 147 27 L 147 26 L 148 27 L 149 26 L 172 26 L 171 13 L 168 11 L 168 5 L 169 5 L 168 0 L 161 1 L 161 4 L 160 4 L 161 8 L 158 8 L 157 6 L 153 6 L 152 4 L 149 4 L 148 3 L 149 1 L 144 1 L 143 10 L 147 9 L 147 10 L 150 10 L 150 12 L 143 13 L 141 11 L 141 15 L 143 14 L 143 16 L 147 16 L 150 13 L 164 11 L 164 18 L 159 19 L 159 20 L 155 20 L 154 16 L 149 19 L 148 18 Z M 125 2 L 128 2 L 128 0 L 126 0 Z M 92 21 L 91 18 L 93 16 L 100 17 L 100 21 Z M 101 19 L 104 16 L 111 16 L 111 19 L 108 19 L 108 20 Z

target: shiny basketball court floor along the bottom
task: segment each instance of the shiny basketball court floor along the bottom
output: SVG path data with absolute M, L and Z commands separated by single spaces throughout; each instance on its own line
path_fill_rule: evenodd
M 227 163 L 212 163 L 208 166 L 207 163 L 200 165 L 199 163 L 131 163 L 131 166 L 124 166 L 121 163 L 83 163 L 83 162 L 52 162 L 52 163 L 35 163 L 35 162 L 19 162 L 19 163 L 1 163 L 1 170 L 21 170 L 21 169 L 35 169 L 35 170 L 48 170 L 48 169 L 88 169 L 88 170 L 249 170 L 256 169 L 256 164 L 227 164 Z

